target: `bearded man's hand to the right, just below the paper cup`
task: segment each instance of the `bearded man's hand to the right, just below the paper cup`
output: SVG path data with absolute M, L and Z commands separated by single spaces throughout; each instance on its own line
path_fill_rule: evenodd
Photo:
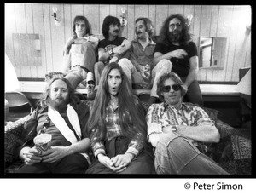
M 44 163 L 55 163 L 65 156 L 67 156 L 67 147 L 65 146 L 52 146 L 48 151 L 42 152 L 40 155 Z

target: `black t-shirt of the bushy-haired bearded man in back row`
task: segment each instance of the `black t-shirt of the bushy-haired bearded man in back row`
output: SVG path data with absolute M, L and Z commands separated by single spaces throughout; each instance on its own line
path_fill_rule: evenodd
M 197 48 L 194 42 L 189 42 L 187 45 L 173 45 L 172 43 L 166 45 L 164 43 L 156 43 L 154 52 L 160 52 L 161 54 L 166 54 L 170 51 L 184 49 L 188 55 L 183 59 L 172 58 L 172 72 L 176 72 L 180 77 L 187 77 L 189 74 L 189 59 L 193 56 L 197 56 Z

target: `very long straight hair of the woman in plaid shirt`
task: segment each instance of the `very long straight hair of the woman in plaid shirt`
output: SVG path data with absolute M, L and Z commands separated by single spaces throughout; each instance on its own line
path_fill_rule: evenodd
M 116 62 L 112 62 L 104 68 L 99 89 L 91 107 L 90 118 L 87 123 L 87 132 L 90 135 L 91 144 L 93 145 L 97 141 L 106 141 L 107 106 L 111 98 L 108 90 L 108 74 L 113 69 L 119 70 L 122 78 L 118 93 L 118 114 L 123 135 L 129 139 L 140 135 L 140 138 L 144 138 L 144 144 L 147 136 L 147 123 L 143 106 L 140 104 L 137 96 L 132 94 L 131 84 L 121 66 Z M 141 136 L 142 134 L 143 136 Z

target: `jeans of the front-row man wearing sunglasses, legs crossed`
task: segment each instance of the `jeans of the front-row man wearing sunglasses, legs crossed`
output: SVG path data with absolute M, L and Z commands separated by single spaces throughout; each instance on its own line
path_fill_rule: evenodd
M 162 134 L 155 148 L 154 167 L 157 174 L 227 175 L 212 158 L 175 132 Z

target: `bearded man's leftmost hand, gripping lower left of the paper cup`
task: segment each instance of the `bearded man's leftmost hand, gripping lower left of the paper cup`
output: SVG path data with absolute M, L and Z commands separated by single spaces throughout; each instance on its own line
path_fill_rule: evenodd
M 32 165 L 33 163 L 41 163 L 42 159 L 39 157 L 40 152 L 36 149 L 36 147 L 26 148 L 27 150 L 22 150 L 22 158 L 24 158 L 24 162 L 26 165 Z

